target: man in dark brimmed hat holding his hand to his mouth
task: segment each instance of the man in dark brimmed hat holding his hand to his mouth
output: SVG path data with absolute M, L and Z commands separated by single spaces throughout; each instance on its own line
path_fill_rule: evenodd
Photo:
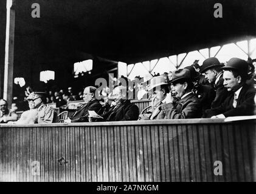
M 170 84 L 173 85 L 173 96 L 168 96 L 163 107 L 165 119 L 188 119 L 201 117 L 201 105 L 198 98 L 192 93 L 193 82 L 188 69 L 179 69 L 173 72 Z

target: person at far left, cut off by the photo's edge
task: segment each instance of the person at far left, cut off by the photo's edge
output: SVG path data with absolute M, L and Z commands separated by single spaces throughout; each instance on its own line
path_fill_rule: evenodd
M 0 99 L 0 123 L 7 123 L 9 121 L 17 121 L 18 115 L 15 110 L 9 110 L 5 99 Z

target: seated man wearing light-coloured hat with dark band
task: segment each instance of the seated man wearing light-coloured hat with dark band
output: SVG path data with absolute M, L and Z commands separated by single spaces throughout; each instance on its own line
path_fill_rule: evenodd
M 148 91 L 153 92 L 151 109 L 140 115 L 139 120 L 164 119 L 162 105 L 164 104 L 167 94 L 170 95 L 164 76 L 156 76 L 150 79 L 150 87 L 148 87 Z

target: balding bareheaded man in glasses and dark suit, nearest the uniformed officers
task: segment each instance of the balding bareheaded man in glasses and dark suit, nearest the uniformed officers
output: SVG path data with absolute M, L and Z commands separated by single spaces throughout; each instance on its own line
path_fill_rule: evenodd
M 95 98 L 96 88 L 88 86 L 83 91 L 83 100 L 85 104 L 81 105 L 77 111 L 64 122 L 89 122 L 88 110 L 93 110 L 95 113 L 99 113 L 102 109 L 102 105 Z

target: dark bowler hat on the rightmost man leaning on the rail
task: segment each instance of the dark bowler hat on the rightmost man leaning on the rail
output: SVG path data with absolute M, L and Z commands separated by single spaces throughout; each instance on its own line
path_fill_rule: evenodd
M 249 68 L 249 63 L 239 58 L 231 58 L 225 67 L 222 67 L 223 70 L 235 70 L 241 75 L 247 75 Z

